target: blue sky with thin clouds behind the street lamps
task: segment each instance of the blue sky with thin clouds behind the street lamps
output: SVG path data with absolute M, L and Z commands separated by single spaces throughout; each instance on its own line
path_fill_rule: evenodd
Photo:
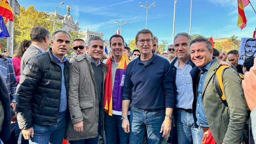
M 103 32 L 104 39 L 109 39 L 120 28 L 115 21 L 128 22 L 122 26 L 121 34 L 128 43 L 135 38 L 141 29 L 145 29 L 146 9 L 140 7 L 142 0 L 62 0 L 63 5 L 58 6 L 57 13 L 66 15 L 69 5 L 70 15 L 74 22 L 79 21 L 81 31 L 86 29 Z M 189 32 L 190 0 L 177 0 L 175 34 Z M 35 5 L 38 11 L 53 12 L 61 1 L 57 0 L 19 0 L 20 5 L 28 7 Z M 156 2 L 156 7 L 148 10 L 147 29 L 161 40 L 172 43 L 174 0 L 149 0 L 149 5 Z M 256 0 L 251 0 L 256 8 Z M 248 20 L 247 26 L 241 31 L 237 26 L 236 0 L 193 0 L 191 34 L 204 36 L 219 35 L 221 38 L 237 35 L 238 39 L 252 37 L 256 26 L 256 14 L 250 5 L 245 7 Z

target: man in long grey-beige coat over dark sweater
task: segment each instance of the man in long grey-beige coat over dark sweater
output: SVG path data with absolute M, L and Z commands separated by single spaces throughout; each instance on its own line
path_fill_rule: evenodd
M 103 137 L 104 80 L 107 65 L 100 61 L 103 40 L 91 37 L 88 54 L 76 56 L 70 66 L 69 111 L 65 139 L 70 144 L 97 144 Z

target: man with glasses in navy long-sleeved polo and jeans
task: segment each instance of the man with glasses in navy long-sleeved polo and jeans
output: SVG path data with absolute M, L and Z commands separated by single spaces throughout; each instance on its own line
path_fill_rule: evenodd
M 160 144 L 162 138 L 170 133 L 173 118 L 170 63 L 152 52 L 154 41 L 150 30 L 139 31 L 135 40 L 141 55 L 131 61 L 125 71 L 122 128 L 129 133 L 130 144 L 143 143 L 145 131 L 149 144 Z

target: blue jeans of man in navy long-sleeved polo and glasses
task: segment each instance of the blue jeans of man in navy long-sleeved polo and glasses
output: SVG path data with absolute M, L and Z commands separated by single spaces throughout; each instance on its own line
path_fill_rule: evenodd
M 131 105 L 130 144 L 144 143 L 145 132 L 149 144 L 161 144 L 161 125 L 165 117 L 165 108 L 159 110 L 142 110 Z

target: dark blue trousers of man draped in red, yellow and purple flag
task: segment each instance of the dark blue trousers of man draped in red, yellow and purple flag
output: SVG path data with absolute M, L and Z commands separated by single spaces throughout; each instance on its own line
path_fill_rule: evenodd
M 128 144 L 129 143 L 129 134 L 125 133 L 122 128 L 122 120 L 120 118 L 122 115 L 112 115 L 110 116 L 108 113 L 104 115 L 104 130 L 106 135 L 107 144 L 116 144 L 117 142 L 116 135 L 119 134 L 120 144 Z M 130 115 L 128 115 L 128 120 Z M 117 131 L 118 129 L 118 131 Z

